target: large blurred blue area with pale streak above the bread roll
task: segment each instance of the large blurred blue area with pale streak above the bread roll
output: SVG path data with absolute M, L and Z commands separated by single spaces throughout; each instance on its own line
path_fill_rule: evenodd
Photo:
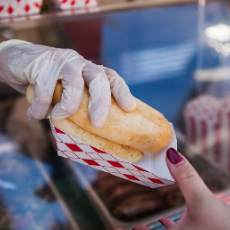
M 196 5 L 110 14 L 103 29 L 103 64 L 132 93 L 176 123 L 194 91 Z

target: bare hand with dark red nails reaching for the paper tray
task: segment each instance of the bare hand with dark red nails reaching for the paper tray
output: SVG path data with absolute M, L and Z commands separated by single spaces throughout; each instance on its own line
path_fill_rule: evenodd
M 186 208 L 181 219 L 160 220 L 167 230 L 229 230 L 230 205 L 219 200 L 206 187 L 191 164 L 176 150 L 167 151 L 166 162 L 178 187 L 183 193 Z M 149 230 L 139 225 L 135 230 Z

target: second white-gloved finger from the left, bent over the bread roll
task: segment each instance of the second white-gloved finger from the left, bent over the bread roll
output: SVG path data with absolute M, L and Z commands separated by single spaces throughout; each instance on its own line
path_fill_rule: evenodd
M 68 69 L 68 67 L 65 67 Z M 54 120 L 63 120 L 77 112 L 83 97 L 84 81 L 82 76 L 74 70 L 66 73 L 65 69 L 63 73 L 65 76 L 61 78 L 63 85 L 62 98 L 51 111 L 51 118 Z M 67 76 L 67 77 L 66 77 Z

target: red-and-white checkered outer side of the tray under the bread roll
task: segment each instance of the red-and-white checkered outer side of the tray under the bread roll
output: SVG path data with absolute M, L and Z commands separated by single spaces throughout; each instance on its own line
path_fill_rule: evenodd
M 135 183 L 157 188 L 174 182 L 161 178 L 67 135 L 51 124 L 58 155 Z

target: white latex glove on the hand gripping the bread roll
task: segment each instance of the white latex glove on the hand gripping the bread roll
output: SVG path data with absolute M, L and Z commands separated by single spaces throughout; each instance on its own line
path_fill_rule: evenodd
M 82 100 L 84 84 L 89 87 L 89 114 L 93 126 L 102 127 L 110 111 L 111 91 L 125 111 L 136 108 L 136 101 L 124 80 L 114 71 L 85 60 L 71 49 L 34 45 L 20 40 L 0 43 L 0 80 L 21 93 L 35 86 L 35 100 L 27 112 L 32 120 L 46 117 L 57 80 L 64 91 L 51 118 L 74 114 Z

